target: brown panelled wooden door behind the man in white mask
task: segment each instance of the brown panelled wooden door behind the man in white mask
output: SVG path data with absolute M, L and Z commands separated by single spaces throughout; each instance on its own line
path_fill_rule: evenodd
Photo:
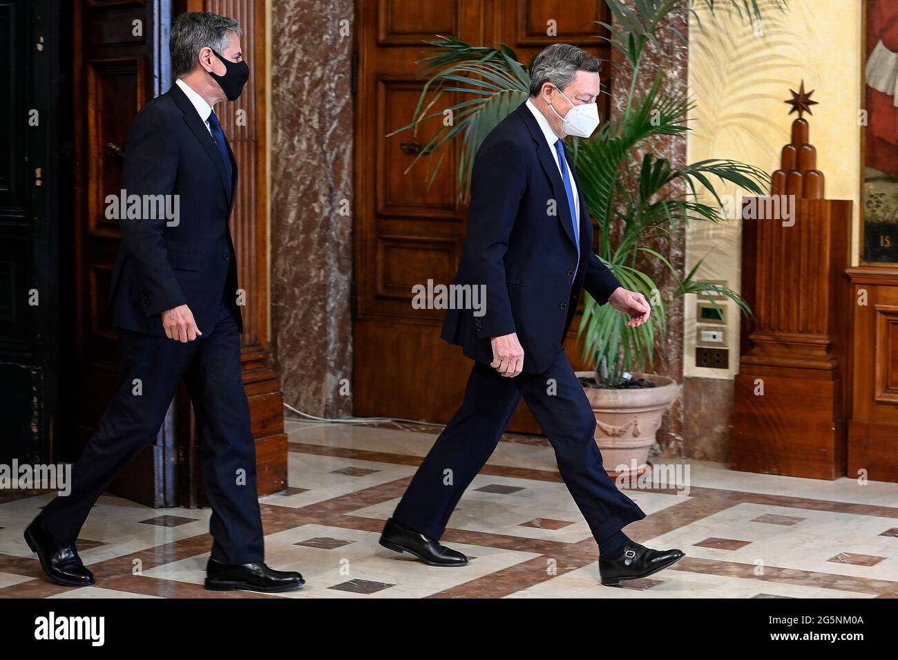
M 386 137 L 412 117 L 424 84 L 416 66 L 428 48 L 424 41 L 441 35 L 474 45 L 505 43 L 527 65 L 541 48 L 557 41 L 607 58 L 607 46 L 594 36 L 594 22 L 599 20 L 607 22 L 603 0 L 358 0 L 357 415 L 446 422 L 461 403 L 471 371 L 461 349 L 439 338 L 445 312 L 411 306 L 412 286 L 426 286 L 428 280 L 451 284 L 461 258 L 467 209 L 457 202 L 457 151 L 444 147 L 445 162 L 428 187 L 427 159 L 405 171 L 438 124 L 425 126 L 418 136 L 405 132 Z M 552 29 L 554 35 L 548 34 Z M 607 85 L 609 67 L 604 68 Z M 606 97 L 600 105 L 603 117 L 607 108 Z M 572 327 L 578 322 L 575 319 Z M 568 339 L 568 355 L 576 360 L 573 343 Z M 510 428 L 539 431 L 524 405 Z

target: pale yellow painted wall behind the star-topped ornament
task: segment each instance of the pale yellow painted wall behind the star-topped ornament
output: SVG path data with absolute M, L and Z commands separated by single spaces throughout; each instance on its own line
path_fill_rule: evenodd
M 712 17 L 696 3 L 690 22 L 689 86 L 697 103 L 691 116 L 687 154 L 691 163 L 732 158 L 766 172 L 779 167 L 779 152 L 789 141 L 792 120 L 789 89 L 815 90 L 810 122 L 817 167 L 826 176 L 826 197 L 853 199 L 852 251 L 858 253 L 860 191 L 861 1 L 789 0 L 785 12 L 762 4 L 765 21 L 755 25 L 718 3 Z M 718 189 L 736 196 L 735 189 Z M 705 199 L 707 201 L 707 198 Z M 736 198 L 735 208 L 739 208 Z M 726 280 L 739 290 L 740 227 L 696 223 L 687 231 L 687 268 L 704 258 L 702 279 Z M 855 264 L 857 256 L 855 256 Z M 800 295 L 784 291 L 782 295 Z M 695 365 L 695 296 L 686 301 L 684 374 L 733 378 L 739 364 L 739 321 L 732 303 L 728 314 L 728 372 Z

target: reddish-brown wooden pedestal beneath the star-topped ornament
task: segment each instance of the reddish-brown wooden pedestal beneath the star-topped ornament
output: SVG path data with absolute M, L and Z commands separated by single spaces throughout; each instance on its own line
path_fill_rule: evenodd
M 844 474 L 850 217 L 849 201 L 799 198 L 793 226 L 744 221 L 755 320 L 735 378 L 734 470 Z

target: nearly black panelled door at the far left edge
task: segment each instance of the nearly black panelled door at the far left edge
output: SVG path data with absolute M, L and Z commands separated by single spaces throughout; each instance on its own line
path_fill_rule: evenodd
M 48 462 L 60 306 L 57 210 L 69 206 L 52 0 L 0 2 L 0 462 Z

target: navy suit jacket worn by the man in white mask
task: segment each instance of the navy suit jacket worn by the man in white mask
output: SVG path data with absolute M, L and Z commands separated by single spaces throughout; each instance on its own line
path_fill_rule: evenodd
M 564 342 L 580 289 L 605 304 L 621 286 L 593 253 L 583 186 L 576 175 L 574 180 L 580 198 L 579 262 L 564 181 L 526 105 L 480 145 L 455 283 L 486 286 L 486 310 L 482 316 L 471 309 L 449 310 L 442 333 L 464 355 L 489 363 L 490 339 L 516 332 L 524 348 L 524 371 L 541 374 Z M 554 216 L 550 200 L 555 200 Z

